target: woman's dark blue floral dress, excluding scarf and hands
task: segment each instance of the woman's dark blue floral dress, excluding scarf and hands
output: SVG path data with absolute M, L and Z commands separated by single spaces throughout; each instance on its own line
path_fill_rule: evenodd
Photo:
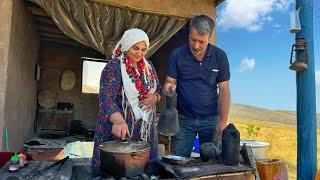
M 151 62 L 148 61 L 150 64 Z M 151 64 L 152 65 L 152 64 Z M 152 65 L 152 70 L 156 75 L 156 71 Z M 161 85 L 159 83 L 159 79 L 156 76 L 157 81 L 157 91 L 161 94 Z M 117 140 L 118 138 L 112 134 L 111 128 L 112 123 L 108 120 L 108 117 L 115 113 L 120 112 L 124 115 L 122 109 L 122 89 L 123 83 L 121 78 L 121 68 L 120 68 L 120 60 L 117 58 L 112 59 L 106 67 L 103 69 L 100 78 L 100 92 L 99 92 L 99 112 L 97 115 L 96 121 L 96 129 L 95 129 L 95 137 L 94 137 L 94 150 L 92 157 L 92 165 L 99 166 L 100 165 L 100 155 L 99 155 L 99 145 L 108 142 Z M 130 106 L 129 106 L 130 108 Z M 123 116 L 124 117 L 124 116 Z M 129 110 L 126 118 L 126 122 L 128 127 L 132 127 L 132 123 L 134 123 L 134 129 L 132 138 L 133 140 L 140 140 L 140 127 L 141 121 L 133 121 L 132 113 Z M 150 144 L 150 156 L 149 159 L 156 160 L 158 156 L 158 134 L 156 128 L 155 117 L 152 118 L 151 129 L 150 129 L 150 139 L 148 140 Z M 129 129 L 130 130 L 130 129 Z

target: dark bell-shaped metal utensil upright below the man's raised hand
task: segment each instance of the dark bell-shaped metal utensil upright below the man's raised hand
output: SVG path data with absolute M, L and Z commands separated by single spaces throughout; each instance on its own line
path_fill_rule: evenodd
M 178 111 L 173 107 L 173 97 L 174 93 L 170 92 L 166 96 L 167 107 L 163 108 L 160 112 L 160 118 L 158 122 L 158 133 L 168 136 L 168 150 L 171 152 L 171 136 L 174 136 L 179 133 L 179 120 L 178 120 Z

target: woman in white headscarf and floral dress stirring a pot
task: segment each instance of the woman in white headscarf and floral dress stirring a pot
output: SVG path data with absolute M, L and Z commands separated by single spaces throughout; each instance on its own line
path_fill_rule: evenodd
M 144 57 L 148 47 L 144 31 L 125 31 L 101 73 L 92 165 L 100 165 L 100 144 L 126 137 L 150 143 L 150 160 L 157 159 L 155 105 L 161 99 L 161 86 Z

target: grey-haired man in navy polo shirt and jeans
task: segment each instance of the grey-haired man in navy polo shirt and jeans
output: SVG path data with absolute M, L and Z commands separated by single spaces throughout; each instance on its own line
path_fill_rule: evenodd
M 190 21 L 189 40 L 169 57 L 164 94 L 177 92 L 180 132 L 174 154 L 189 157 L 193 142 L 218 141 L 230 108 L 229 63 L 226 53 L 209 43 L 214 21 L 205 15 Z M 218 93 L 219 90 L 219 93 Z

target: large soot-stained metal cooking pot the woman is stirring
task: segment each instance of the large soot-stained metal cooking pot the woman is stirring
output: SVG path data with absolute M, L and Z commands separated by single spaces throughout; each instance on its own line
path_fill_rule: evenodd
M 134 177 L 144 172 L 149 144 L 143 141 L 110 141 L 100 145 L 101 171 L 112 176 Z

